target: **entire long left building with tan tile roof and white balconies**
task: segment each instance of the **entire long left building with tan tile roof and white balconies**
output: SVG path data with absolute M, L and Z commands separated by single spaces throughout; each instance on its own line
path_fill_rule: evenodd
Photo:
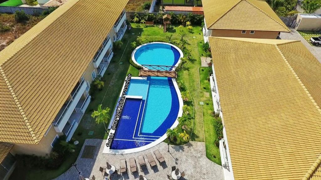
M 71 139 L 127 29 L 128 0 L 70 0 L 0 52 L 0 142 L 44 155 Z

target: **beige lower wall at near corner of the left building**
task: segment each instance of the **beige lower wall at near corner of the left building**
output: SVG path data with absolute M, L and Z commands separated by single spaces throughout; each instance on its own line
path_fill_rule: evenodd
M 46 136 L 44 136 L 39 144 L 14 144 L 11 152 L 13 154 L 35 154 L 44 156 L 51 152 L 51 143 L 56 137 L 56 135 L 60 136 L 63 133 L 57 133 L 54 127 L 51 127 Z

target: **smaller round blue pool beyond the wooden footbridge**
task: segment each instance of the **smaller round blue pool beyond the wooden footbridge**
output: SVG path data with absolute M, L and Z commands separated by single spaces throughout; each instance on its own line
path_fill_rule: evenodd
M 138 46 L 132 53 L 132 60 L 137 65 L 176 67 L 183 56 L 183 52 L 175 45 L 153 42 Z

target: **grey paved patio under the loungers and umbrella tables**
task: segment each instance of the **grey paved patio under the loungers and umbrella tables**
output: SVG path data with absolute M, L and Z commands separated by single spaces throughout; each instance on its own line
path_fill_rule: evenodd
M 105 142 L 106 140 L 101 139 L 86 139 L 84 146 L 95 145 L 97 146 L 97 149 L 93 159 L 84 159 L 80 158 L 84 149 L 84 146 L 82 147 L 80 155 L 76 161 L 76 164 L 78 164 L 77 168 L 82 172 L 82 176 L 91 177 L 94 175 L 96 180 L 102 180 L 103 177 L 99 171 L 99 167 L 106 167 L 107 161 L 108 163 L 115 165 L 116 168 L 119 168 L 119 160 L 125 158 L 128 168 L 129 158 L 135 158 L 137 166 L 139 166 L 137 159 L 139 155 L 145 155 L 159 149 L 165 158 L 166 164 L 160 166 L 157 163 L 158 167 L 154 169 L 151 169 L 150 166 L 148 166 L 147 171 L 139 171 L 139 174 L 134 173 L 134 175 L 131 175 L 129 170 L 128 175 L 125 175 L 124 178 L 126 180 L 137 179 L 139 175 L 143 175 L 149 180 L 164 180 L 167 179 L 166 175 L 171 173 L 171 167 L 176 166 L 181 172 L 185 171 L 185 179 L 187 180 L 223 180 L 222 167 L 206 158 L 205 143 L 203 142 L 191 142 L 183 146 L 170 145 L 170 152 L 168 152 L 168 145 L 166 143 L 160 143 L 145 151 L 123 155 L 103 154 L 102 151 L 104 149 Z M 147 159 L 146 163 L 148 164 Z M 79 180 L 79 175 L 77 174 L 77 170 L 74 167 L 71 167 L 63 175 L 56 178 L 56 180 Z

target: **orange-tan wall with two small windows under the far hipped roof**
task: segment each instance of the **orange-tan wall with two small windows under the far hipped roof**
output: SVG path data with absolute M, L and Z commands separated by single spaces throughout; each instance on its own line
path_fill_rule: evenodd
M 241 30 L 219 30 L 211 29 L 211 35 L 214 37 L 247 37 L 247 38 L 262 38 L 262 39 L 276 39 L 279 32 L 273 31 L 255 31 L 254 34 L 250 34 L 250 31 L 246 31 L 242 34 Z

